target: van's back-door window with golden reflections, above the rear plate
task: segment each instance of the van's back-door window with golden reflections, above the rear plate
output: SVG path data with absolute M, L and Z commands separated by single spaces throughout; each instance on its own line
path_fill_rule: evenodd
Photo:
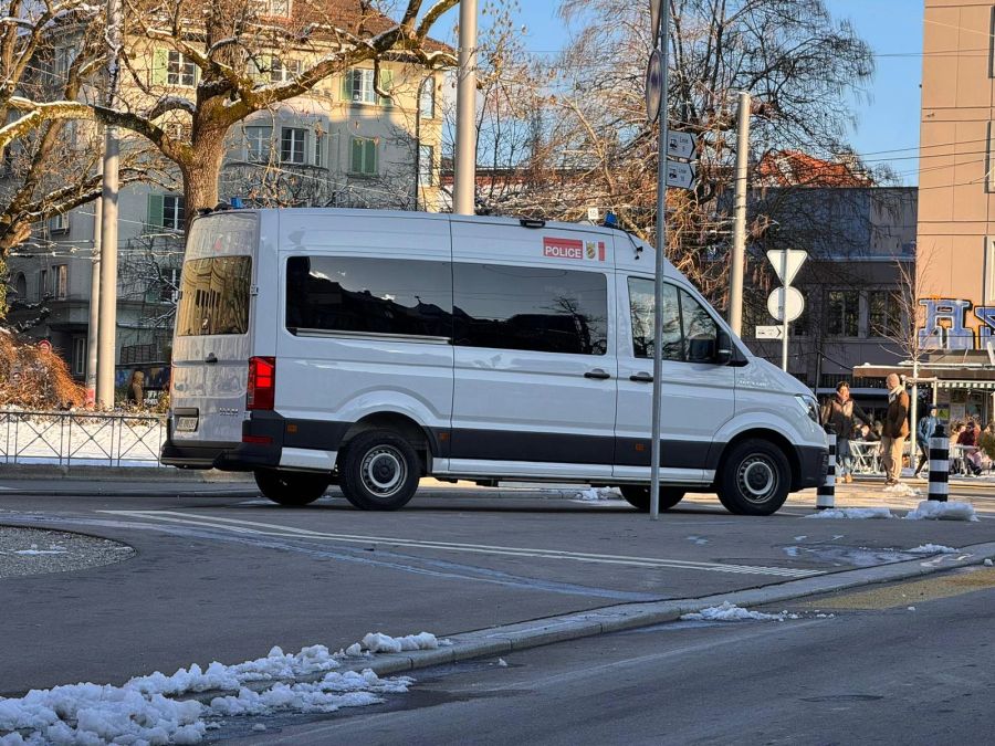
M 210 256 L 184 263 L 176 328 L 181 337 L 249 332 L 249 256 Z

